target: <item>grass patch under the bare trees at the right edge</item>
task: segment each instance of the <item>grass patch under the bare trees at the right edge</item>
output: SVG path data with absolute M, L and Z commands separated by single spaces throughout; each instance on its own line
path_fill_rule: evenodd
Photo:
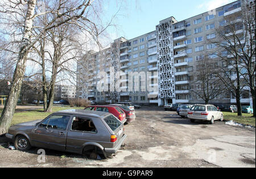
M 222 112 L 225 120 L 233 120 L 234 122 L 251 125 L 255 127 L 255 118 L 252 118 L 253 114 L 243 113 L 242 116 L 237 116 L 237 113 Z

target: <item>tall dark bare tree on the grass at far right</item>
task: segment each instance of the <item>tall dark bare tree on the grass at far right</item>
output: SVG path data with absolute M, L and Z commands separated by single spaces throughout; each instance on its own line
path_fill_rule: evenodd
M 209 40 L 217 45 L 216 55 L 222 65 L 216 73 L 222 83 L 236 97 L 238 115 L 241 111 L 241 91 L 249 86 L 255 104 L 255 11 L 243 10 L 225 16 L 216 30 L 218 40 Z M 254 105 L 255 106 L 255 105 Z M 255 114 L 254 114 L 255 115 Z

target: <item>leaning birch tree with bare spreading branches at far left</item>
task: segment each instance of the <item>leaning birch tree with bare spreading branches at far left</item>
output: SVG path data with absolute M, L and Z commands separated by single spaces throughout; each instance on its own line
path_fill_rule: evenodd
M 89 7 L 92 5 L 93 0 L 84 1 L 70 1 L 65 2 L 59 0 L 56 3 L 46 3 L 51 5 L 46 7 L 46 11 L 43 13 L 36 13 L 36 0 L 27 1 L 4 1 L 0 4 L 1 22 L 7 23 L 7 16 L 12 16 L 12 19 L 17 19 L 16 26 L 19 28 L 19 37 L 22 36 L 21 40 L 17 40 L 19 45 L 18 58 L 16 68 L 13 76 L 13 82 L 11 85 L 8 101 L 6 102 L 5 108 L 3 109 L 0 118 L 0 134 L 4 134 L 10 126 L 11 120 L 13 119 L 14 110 L 18 101 L 20 88 L 22 86 L 22 80 L 26 69 L 26 61 L 28 58 L 28 52 L 31 50 L 33 45 L 38 42 L 44 32 L 61 26 L 68 22 L 76 22 L 76 20 L 82 19 L 90 21 L 86 18 L 89 11 Z M 25 10 L 25 12 L 24 12 Z M 34 27 L 33 23 L 36 18 L 40 18 L 43 14 L 55 14 L 51 20 L 44 27 Z M 22 19 L 22 20 L 20 20 Z M 10 20 L 10 19 L 9 19 Z M 22 23 L 23 21 L 23 23 Z M 33 28 L 38 28 L 40 34 L 38 36 L 31 36 Z M 6 49 L 6 51 L 12 51 Z

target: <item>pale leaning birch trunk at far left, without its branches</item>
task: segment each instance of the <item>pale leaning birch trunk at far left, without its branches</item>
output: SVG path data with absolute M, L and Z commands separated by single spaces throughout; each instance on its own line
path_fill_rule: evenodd
M 8 100 L 2 111 L 0 118 L 0 135 L 5 134 L 10 127 L 13 119 L 14 111 L 19 99 L 20 89 L 22 87 L 22 80 L 26 70 L 26 61 L 28 55 L 28 45 L 30 43 L 30 36 L 32 30 L 32 17 L 35 14 L 36 0 L 28 1 L 27 15 L 24 23 L 24 32 L 21 45 L 19 48 L 18 62 L 13 76 L 13 85 L 11 86 Z

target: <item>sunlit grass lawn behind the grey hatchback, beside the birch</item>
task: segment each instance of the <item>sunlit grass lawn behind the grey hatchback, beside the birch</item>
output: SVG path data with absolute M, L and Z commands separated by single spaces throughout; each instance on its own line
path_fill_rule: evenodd
M 84 107 L 53 107 L 52 113 L 56 111 L 66 110 L 66 109 L 84 109 Z M 2 113 L 2 110 L 0 110 Z M 18 124 L 22 122 L 28 122 L 31 120 L 44 119 L 51 113 L 44 113 L 43 109 L 33 110 L 33 111 L 25 111 L 21 113 L 14 113 L 13 121 L 11 125 Z

